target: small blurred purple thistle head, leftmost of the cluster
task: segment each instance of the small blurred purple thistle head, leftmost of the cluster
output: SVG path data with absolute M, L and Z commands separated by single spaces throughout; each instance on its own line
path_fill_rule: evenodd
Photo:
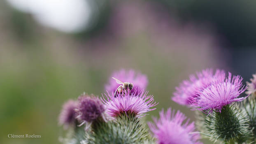
M 74 100 L 68 100 L 62 106 L 61 113 L 59 115 L 59 123 L 67 127 L 68 125 L 75 124 L 77 102 Z

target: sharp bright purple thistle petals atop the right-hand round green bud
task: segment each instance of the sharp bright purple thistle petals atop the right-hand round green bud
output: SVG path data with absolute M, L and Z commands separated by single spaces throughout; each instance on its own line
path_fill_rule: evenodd
M 228 72 L 228 78 L 226 81 L 220 81 L 219 83 L 212 84 L 200 92 L 198 102 L 195 104 L 199 110 L 209 112 L 219 111 L 225 105 L 229 105 L 232 102 L 239 102 L 247 97 L 238 98 L 241 93 L 246 90 L 247 86 L 242 85 L 242 77 L 239 75 L 233 76 L 231 79 L 231 73 Z

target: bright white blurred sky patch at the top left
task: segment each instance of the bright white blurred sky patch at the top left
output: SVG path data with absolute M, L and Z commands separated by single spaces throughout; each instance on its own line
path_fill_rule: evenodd
M 66 33 L 88 26 L 92 9 L 87 0 L 7 0 L 12 7 L 30 13 L 36 21 Z

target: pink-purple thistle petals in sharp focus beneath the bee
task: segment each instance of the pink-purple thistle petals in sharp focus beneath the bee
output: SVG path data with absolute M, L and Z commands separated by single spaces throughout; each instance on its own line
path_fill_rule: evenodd
M 136 93 L 136 91 L 135 91 Z M 132 93 L 119 93 L 117 97 L 114 97 L 114 92 L 112 95 L 109 93 L 105 94 L 106 98 L 102 95 L 102 101 L 106 106 L 106 113 L 109 116 L 116 117 L 121 113 L 130 112 L 136 114 L 138 118 L 145 116 L 151 107 L 156 106 L 158 103 L 154 102 L 153 95 L 147 95 L 148 92 L 140 91 L 138 94 Z

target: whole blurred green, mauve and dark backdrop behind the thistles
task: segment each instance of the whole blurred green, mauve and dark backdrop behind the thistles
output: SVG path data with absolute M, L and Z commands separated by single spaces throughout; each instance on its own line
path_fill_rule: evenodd
M 121 68 L 148 76 L 159 105 L 146 121 L 168 107 L 195 120 L 170 100 L 175 86 L 205 68 L 248 81 L 256 72 L 255 7 L 238 0 L 1 0 L 0 144 L 58 144 L 63 102 L 101 95 Z

